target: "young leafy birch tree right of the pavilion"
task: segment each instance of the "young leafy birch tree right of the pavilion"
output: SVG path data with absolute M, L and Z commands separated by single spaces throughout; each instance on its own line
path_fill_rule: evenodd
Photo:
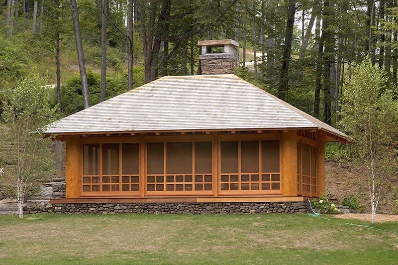
M 362 62 L 345 85 L 341 125 L 354 139 L 352 157 L 371 190 L 372 211 L 397 177 L 398 102 L 386 73 Z

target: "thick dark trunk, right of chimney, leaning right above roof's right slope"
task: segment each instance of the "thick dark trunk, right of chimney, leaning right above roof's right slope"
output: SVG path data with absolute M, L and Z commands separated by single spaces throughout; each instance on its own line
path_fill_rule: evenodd
M 289 0 L 288 19 L 286 22 L 285 43 L 283 47 L 281 76 L 278 97 L 285 100 L 289 90 L 289 62 L 292 52 L 293 26 L 295 23 L 296 1 Z

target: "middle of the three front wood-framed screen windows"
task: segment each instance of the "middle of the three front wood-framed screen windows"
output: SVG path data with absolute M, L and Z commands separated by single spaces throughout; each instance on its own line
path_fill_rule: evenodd
M 146 194 L 212 194 L 212 142 L 147 143 Z

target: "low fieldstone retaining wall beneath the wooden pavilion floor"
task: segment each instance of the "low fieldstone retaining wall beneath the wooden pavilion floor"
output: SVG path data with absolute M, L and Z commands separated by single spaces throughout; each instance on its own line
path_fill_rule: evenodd
M 24 208 L 25 213 L 63 214 L 256 214 L 306 213 L 307 202 L 262 203 L 83 203 L 35 204 Z

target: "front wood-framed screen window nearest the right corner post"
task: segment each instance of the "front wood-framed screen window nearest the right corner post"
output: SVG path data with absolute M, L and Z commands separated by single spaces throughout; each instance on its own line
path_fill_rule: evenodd
M 220 195 L 280 194 L 279 140 L 221 141 Z

